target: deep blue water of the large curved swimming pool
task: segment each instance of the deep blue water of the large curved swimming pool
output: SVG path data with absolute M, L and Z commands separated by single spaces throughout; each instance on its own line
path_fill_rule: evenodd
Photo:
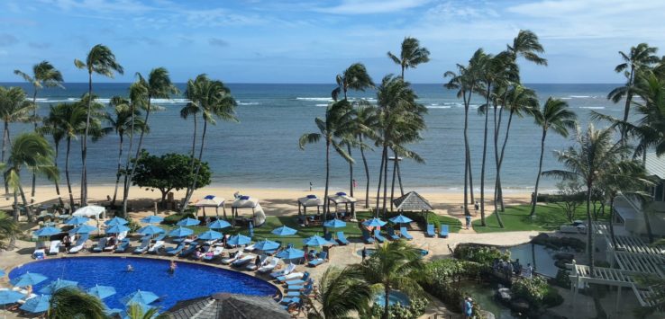
M 131 264 L 134 271 L 127 272 Z M 32 261 L 9 273 L 14 279 L 25 272 L 37 272 L 48 277 L 34 291 L 51 280 L 78 281 L 78 287 L 112 286 L 117 294 L 104 299 L 109 308 L 123 309 L 120 298 L 137 289 L 151 291 L 160 297 L 151 306 L 167 310 L 180 300 L 228 292 L 253 296 L 274 296 L 277 288 L 269 282 L 249 275 L 187 262 L 178 262 L 175 274 L 169 274 L 169 261 L 132 257 L 77 257 Z

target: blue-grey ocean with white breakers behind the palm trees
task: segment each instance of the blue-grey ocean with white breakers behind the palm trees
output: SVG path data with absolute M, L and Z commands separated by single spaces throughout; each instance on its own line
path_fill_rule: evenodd
M 5 83 L 5 86 L 23 86 L 32 96 L 32 87 L 24 83 Z M 549 96 L 564 99 L 578 114 L 579 122 L 585 127 L 591 111 L 620 117 L 623 104 L 614 104 L 606 99 L 617 84 L 527 84 L 533 88 L 544 102 Z M 114 95 L 127 95 L 126 83 L 94 84 L 101 102 L 108 102 Z M 184 84 L 178 84 L 183 89 Z M 315 189 L 323 188 L 325 179 L 324 144 L 308 145 L 305 150 L 298 148 L 298 137 L 303 133 L 314 132 L 315 117 L 323 117 L 326 105 L 331 102 L 333 84 L 228 84 L 232 95 L 238 101 L 237 116 L 240 123 L 218 121 L 208 128 L 205 140 L 204 160 L 210 164 L 214 175 L 213 183 L 229 187 L 291 188 L 307 189 L 309 182 Z M 65 84 L 66 89 L 44 89 L 38 95 L 39 113 L 45 115 L 50 104 L 74 102 L 87 92 L 87 84 Z M 461 191 L 464 173 L 464 142 L 462 128 L 464 109 L 455 92 L 446 90 L 442 84 L 414 84 L 414 91 L 429 112 L 425 116 L 427 129 L 424 140 L 410 145 L 416 153 L 424 157 L 425 164 L 416 164 L 405 159 L 401 163 L 405 190 Z M 350 92 L 350 98 L 366 98 L 370 102 L 376 93 Z M 164 111 L 150 115 L 150 134 L 145 137 L 143 147 L 151 154 L 169 152 L 188 153 L 192 143 L 192 120 L 179 116 L 185 104 L 182 97 L 155 102 Z M 478 189 L 480 160 L 482 155 L 483 120 L 478 115 L 480 97 L 471 101 L 469 111 L 469 141 L 471 158 L 474 164 L 474 186 Z M 506 116 L 507 119 L 507 116 Z M 506 123 L 504 120 L 504 127 Z M 490 113 L 491 124 L 491 113 Z M 604 124 L 599 123 L 597 126 Z M 31 130 L 31 125 L 13 124 L 11 135 L 22 130 Z M 488 140 L 492 141 L 490 128 Z M 572 133 L 572 132 L 571 132 Z M 502 169 L 502 182 L 507 192 L 532 191 L 538 169 L 541 129 L 532 118 L 515 118 L 506 146 L 506 157 Z M 197 141 L 197 145 L 199 142 Z M 543 170 L 559 168 L 552 155 L 554 150 L 569 146 L 569 138 L 548 134 Z M 90 184 L 113 184 L 118 153 L 118 137 L 110 135 L 96 143 L 88 144 L 88 170 Z M 126 143 L 125 143 L 126 145 Z M 71 172 L 73 181 L 80 179 L 79 143 L 72 143 Z M 59 165 L 64 165 L 64 146 L 60 146 Z M 490 144 L 487 153 L 487 189 L 494 184 L 494 153 Z M 379 150 L 367 152 L 370 172 L 370 189 L 378 182 Z M 353 150 L 354 176 L 359 189 L 365 185 L 365 173 L 359 150 Z M 391 165 L 392 166 L 392 165 Z M 27 173 L 24 173 L 27 175 Z M 389 173 L 390 175 L 390 173 Z M 38 180 L 40 184 L 49 184 Z M 64 173 L 62 177 L 64 181 Z M 552 190 L 554 180 L 543 178 L 542 189 Z M 331 186 L 333 191 L 348 191 L 348 164 L 339 155 L 332 155 Z M 491 193 L 491 191 L 489 191 Z

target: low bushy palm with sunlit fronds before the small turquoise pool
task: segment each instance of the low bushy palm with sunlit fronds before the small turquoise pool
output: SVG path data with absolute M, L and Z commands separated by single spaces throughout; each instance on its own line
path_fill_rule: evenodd
M 388 318 L 390 291 L 399 289 L 408 295 L 423 295 L 423 288 L 418 285 L 419 270 L 424 269 L 420 249 L 396 240 L 386 244 L 377 244 L 375 253 L 365 262 L 351 266 L 362 273 L 372 290 L 383 291 L 386 297 L 383 318 Z

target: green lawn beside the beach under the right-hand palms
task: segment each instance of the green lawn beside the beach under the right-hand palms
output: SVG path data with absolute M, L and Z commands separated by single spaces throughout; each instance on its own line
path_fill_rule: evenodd
M 496 232 L 514 232 L 525 230 L 551 231 L 559 229 L 559 226 L 569 224 L 566 213 L 562 206 L 557 203 L 542 203 L 536 208 L 536 217 L 529 216 L 531 205 L 517 205 L 506 207 L 506 211 L 501 213 L 501 219 L 505 228 L 498 226 L 494 214 L 487 215 L 485 218 L 487 226 L 480 226 L 480 220 L 473 222 L 473 229 L 476 233 L 496 233 Z M 607 220 L 609 214 L 606 212 L 598 217 L 599 220 Z M 587 220 L 587 207 L 580 205 L 575 211 L 573 220 Z

